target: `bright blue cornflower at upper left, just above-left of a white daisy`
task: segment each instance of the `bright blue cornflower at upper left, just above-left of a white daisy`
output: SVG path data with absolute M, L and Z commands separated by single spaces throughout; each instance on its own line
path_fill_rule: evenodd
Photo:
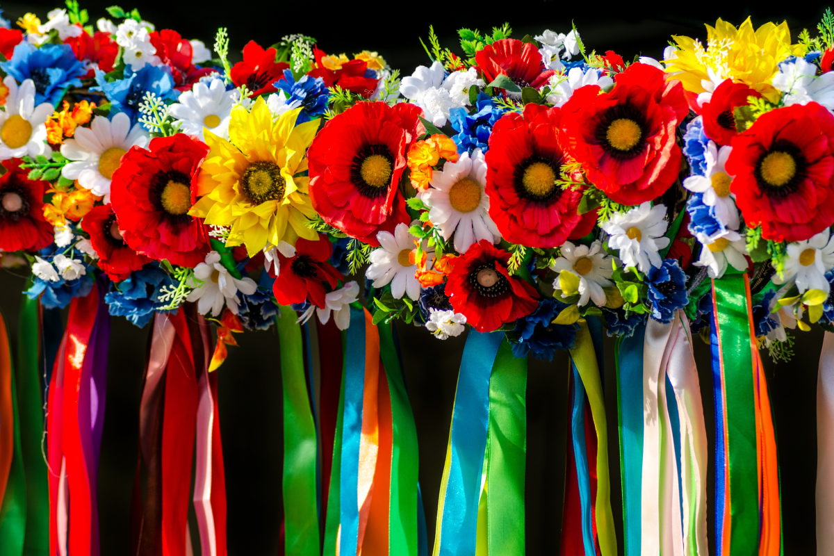
M 96 71 L 98 87 L 91 91 L 103 91 L 107 95 L 112 107 L 111 118 L 114 113 L 124 113 L 130 118 L 130 125 L 139 120 L 139 103 L 143 101 L 145 93 L 154 93 L 160 100 L 175 99 L 178 91 L 173 88 L 171 68 L 168 66 L 145 66 L 138 72 L 125 68 L 124 78 L 108 82 L 102 71 Z

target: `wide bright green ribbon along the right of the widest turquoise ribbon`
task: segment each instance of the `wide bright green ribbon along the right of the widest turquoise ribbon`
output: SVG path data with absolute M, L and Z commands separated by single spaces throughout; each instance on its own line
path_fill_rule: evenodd
M 526 389 L 527 358 L 515 358 L 504 340 L 490 378 L 486 446 L 490 554 L 525 553 Z

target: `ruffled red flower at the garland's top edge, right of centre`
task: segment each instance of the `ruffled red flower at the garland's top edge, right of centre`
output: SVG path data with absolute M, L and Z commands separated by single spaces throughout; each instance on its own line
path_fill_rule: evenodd
M 552 69 L 545 72 L 545 64 L 535 44 L 522 43 L 516 38 L 502 38 L 488 44 L 475 53 L 475 62 L 484 73 L 487 84 L 503 73 L 520 88 L 537 89 L 556 73 Z

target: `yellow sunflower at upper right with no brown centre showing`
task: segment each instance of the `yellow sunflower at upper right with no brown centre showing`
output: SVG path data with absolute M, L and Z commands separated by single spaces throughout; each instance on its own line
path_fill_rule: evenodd
M 747 18 L 736 29 L 719 19 L 714 28 L 705 27 L 706 48 L 696 39 L 672 37 L 679 50 L 676 59 L 667 61 L 666 71 L 675 73 L 691 93 L 706 91 L 702 80 L 714 83 L 716 78 L 730 78 L 746 83 L 771 102 L 778 101 L 781 93 L 771 85 L 779 71 L 777 64 L 789 56 L 805 54 L 801 44 L 791 45 L 787 23 L 765 23 L 754 30 Z

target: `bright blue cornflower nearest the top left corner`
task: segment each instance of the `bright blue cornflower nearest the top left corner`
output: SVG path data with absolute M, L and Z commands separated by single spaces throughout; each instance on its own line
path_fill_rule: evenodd
M 36 106 L 50 103 L 56 108 L 68 88 L 81 87 L 79 78 L 87 73 L 68 44 L 47 44 L 38 48 L 26 41 L 14 48 L 12 59 L 0 63 L 0 68 L 18 83 L 32 79 Z

